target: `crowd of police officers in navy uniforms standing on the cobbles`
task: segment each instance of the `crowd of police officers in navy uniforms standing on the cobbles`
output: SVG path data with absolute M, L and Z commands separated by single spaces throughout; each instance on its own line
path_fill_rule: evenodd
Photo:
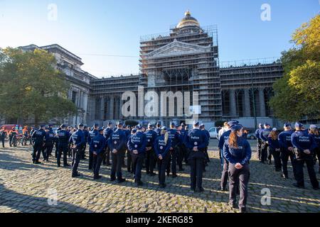
M 304 129 L 302 123 L 297 122 L 292 130 L 290 123 L 284 124 L 284 131 L 277 133 L 276 128 L 270 124 L 260 124 L 257 129 L 257 151 L 260 162 L 272 164 L 274 157 L 274 170 L 282 171 L 282 177 L 288 178 L 287 162 L 290 158 L 293 167 L 294 178 L 297 183 L 295 187 L 304 188 L 304 162 L 309 173 L 312 187 L 319 189 L 316 179 L 314 165 L 316 155 L 320 156 L 320 136 L 316 126 L 311 125 L 309 130 Z M 0 130 L 0 138 L 2 136 Z M 110 181 L 117 183 L 125 182 L 122 177 L 122 167 L 134 175 L 134 183 L 137 187 L 142 186 L 142 169 L 146 169 L 146 175 L 156 175 L 154 169 L 157 167 L 159 176 L 159 187 L 166 187 L 166 176 L 175 178 L 177 171 L 183 171 L 183 162 L 190 166 L 191 190 L 203 192 L 202 178 L 206 166 L 210 162 L 208 156 L 208 144 L 210 134 L 205 126 L 199 121 L 193 122 L 193 128 L 183 123 L 176 125 L 170 123 L 170 127 L 149 124 L 144 127 L 125 126 L 119 121 L 115 127 L 112 122 L 107 127 L 100 128 L 97 123 L 92 128 L 82 123 L 78 128 L 61 125 L 58 130 L 53 131 L 52 126 L 40 126 L 38 130 L 32 129 L 30 133 L 33 144 L 32 160 L 34 164 L 39 162 L 41 153 L 43 161 L 48 161 L 53 156 L 55 147 L 55 158 L 58 167 L 68 164 L 68 156 L 72 157 L 72 177 L 80 177 L 78 165 L 80 160 L 85 160 L 85 150 L 89 146 L 89 165 L 94 179 L 100 179 L 101 165 L 111 165 Z M 222 175 L 220 190 L 226 191 L 229 181 L 230 206 L 235 208 L 236 196 L 240 194 L 238 207 L 240 212 L 245 212 L 247 204 L 247 185 L 250 179 L 250 158 L 252 151 L 247 142 L 244 127 L 239 121 L 225 122 L 219 131 L 218 148 L 220 150 L 220 161 Z M 127 155 L 127 165 L 124 157 Z M 111 160 L 111 162 L 110 162 Z M 178 168 L 177 168 L 178 167 Z M 320 167 L 319 167 L 320 172 Z

